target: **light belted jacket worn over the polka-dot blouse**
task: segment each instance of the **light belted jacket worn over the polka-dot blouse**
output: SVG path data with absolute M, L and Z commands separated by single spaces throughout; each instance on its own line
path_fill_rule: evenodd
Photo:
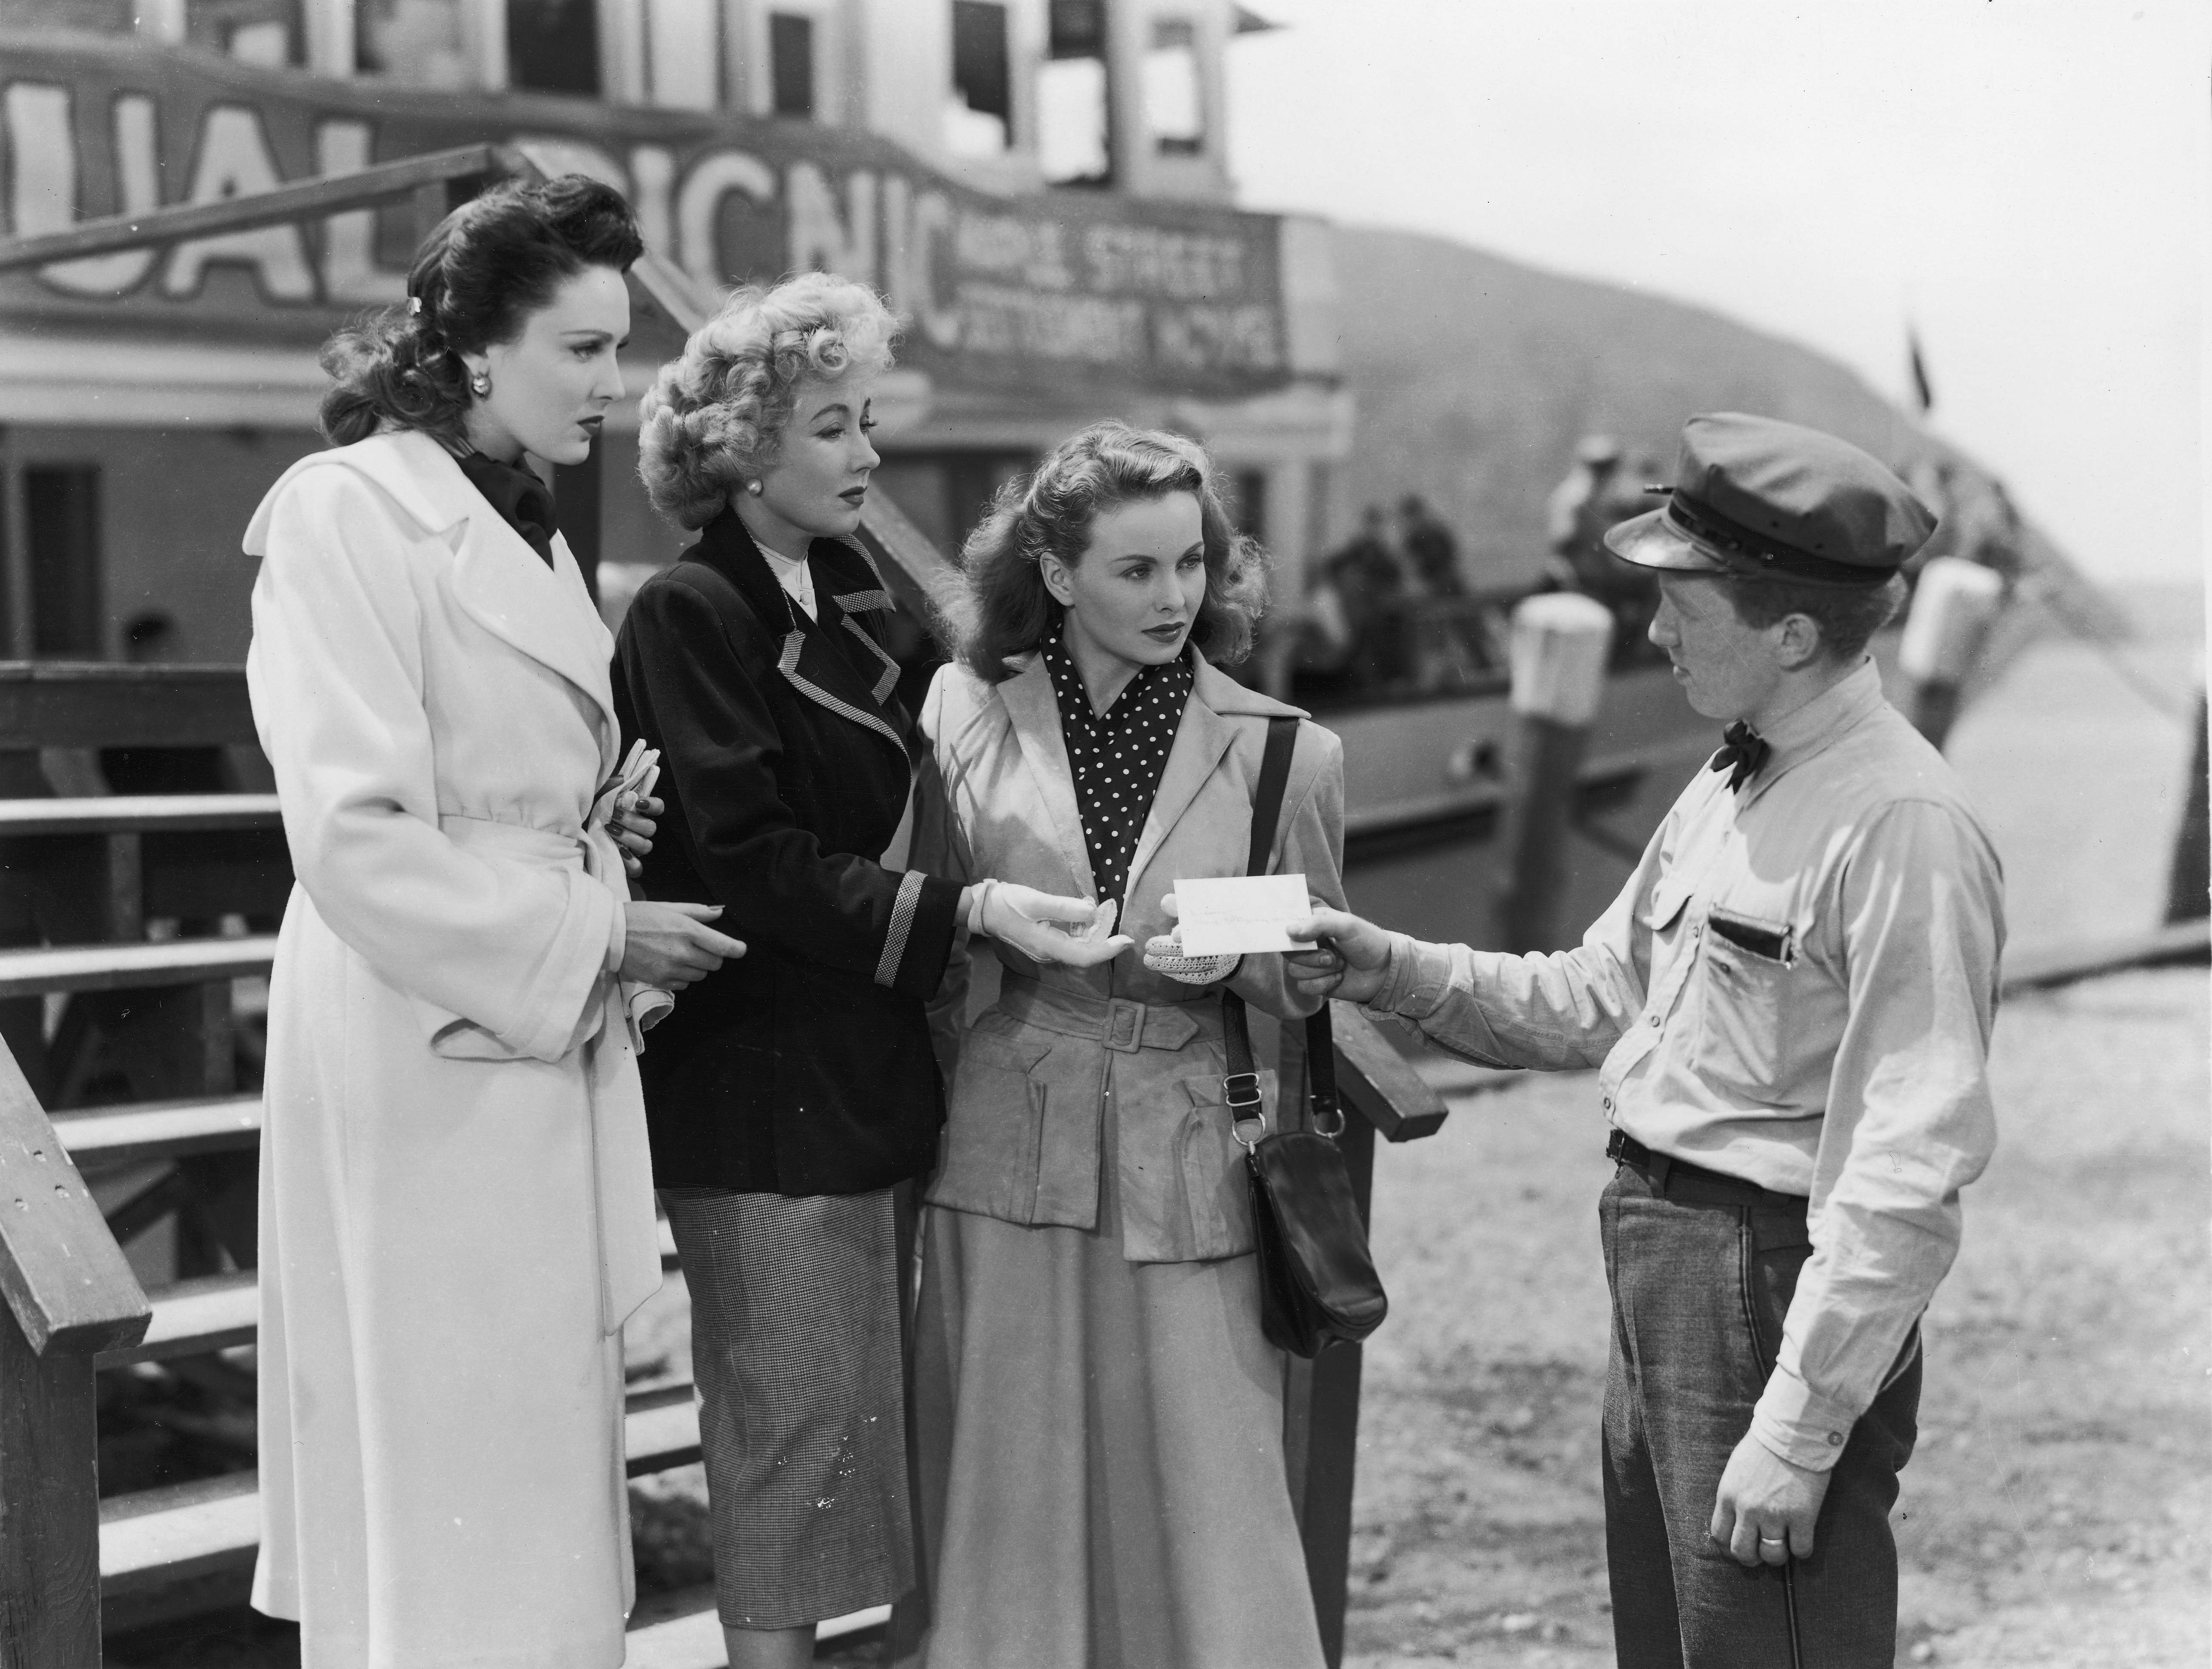
M 1168 933 L 1161 898 L 1177 880 L 1243 875 L 1252 789 L 1267 721 L 1305 718 L 1197 659 L 1175 747 L 1128 869 L 1121 933 Z M 998 878 L 1046 893 L 1095 895 L 1042 659 L 1004 683 L 945 668 L 922 705 L 938 791 L 916 798 L 914 862 L 958 882 Z M 1343 900 L 1343 747 L 1298 725 L 1270 873 L 1305 873 Z M 1002 964 L 998 999 L 964 1024 L 967 955 Z M 1279 955 L 1248 955 L 1225 982 L 1252 1008 L 1301 1017 L 1316 1001 L 1290 986 Z M 927 1198 L 1022 1225 L 1097 1227 L 1099 1174 L 1117 1167 L 1130 1262 L 1188 1262 L 1252 1249 L 1252 1207 L 1221 1079 L 1221 986 L 1150 973 L 1139 948 L 1102 968 L 1044 966 L 980 942 L 958 946 L 933 1004 L 951 1083 L 942 1158 Z M 1270 1116 L 1281 1116 L 1265 1074 Z M 1113 1101 L 1117 1143 L 1104 1145 Z

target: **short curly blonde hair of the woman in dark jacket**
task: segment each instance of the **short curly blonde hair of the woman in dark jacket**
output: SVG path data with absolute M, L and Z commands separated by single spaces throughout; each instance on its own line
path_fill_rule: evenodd
M 801 382 L 883 374 L 896 338 L 883 298 L 834 272 L 734 292 L 637 405 L 637 475 L 653 508 L 703 528 L 776 462 Z

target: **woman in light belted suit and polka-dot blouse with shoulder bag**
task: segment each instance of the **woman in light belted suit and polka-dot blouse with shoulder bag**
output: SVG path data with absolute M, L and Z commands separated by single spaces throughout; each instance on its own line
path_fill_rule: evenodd
M 1250 648 L 1261 553 L 1194 444 L 1102 424 L 1000 497 L 967 579 L 962 661 L 922 714 L 945 794 L 916 864 L 1093 893 L 1139 944 L 1168 935 L 1177 878 L 1245 873 L 1267 721 L 1303 718 L 1208 661 Z M 1301 723 L 1270 869 L 1336 898 L 1340 849 L 1340 749 Z M 1314 1001 L 1274 955 L 1192 986 L 1133 955 L 995 951 L 973 1024 L 960 977 L 940 999 L 953 1088 L 916 1322 L 927 1623 L 909 1607 L 900 1647 L 933 1669 L 1318 1667 L 1219 993 L 1281 1017 Z

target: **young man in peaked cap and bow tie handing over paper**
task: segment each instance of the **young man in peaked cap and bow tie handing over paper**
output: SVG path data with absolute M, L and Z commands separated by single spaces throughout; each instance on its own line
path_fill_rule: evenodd
M 1307 990 L 1486 1066 L 1601 1068 L 1619 1161 L 1604 1488 L 1628 1669 L 1896 1656 L 1889 1508 L 1918 1320 L 1989 1161 L 1997 853 L 1867 639 L 1933 517 L 1874 458 L 1692 418 L 1670 502 L 1608 535 L 1728 732 L 1573 951 L 1321 911 Z

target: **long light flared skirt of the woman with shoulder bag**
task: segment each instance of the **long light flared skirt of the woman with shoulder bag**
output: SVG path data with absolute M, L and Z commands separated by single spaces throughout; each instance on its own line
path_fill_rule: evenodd
M 1115 1152 L 1108 1103 L 1106 1152 Z M 929 1669 L 1321 1669 L 1256 1260 L 929 1207 L 916 1320 Z

